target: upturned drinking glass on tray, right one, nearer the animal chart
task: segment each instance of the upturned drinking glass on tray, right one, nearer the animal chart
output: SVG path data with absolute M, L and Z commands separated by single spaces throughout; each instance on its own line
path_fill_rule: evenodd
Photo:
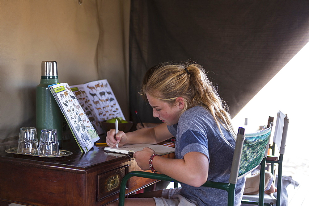
M 38 155 L 43 156 L 60 155 L 59 142 L 56 129 L 41 130 Z

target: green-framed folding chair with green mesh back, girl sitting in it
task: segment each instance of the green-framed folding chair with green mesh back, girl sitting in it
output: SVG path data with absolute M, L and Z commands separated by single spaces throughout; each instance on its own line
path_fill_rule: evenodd
M 271 127 L 261 132 L 244 135 L 244 128 L 239 127 L 236 138 L 236 146 L 231 167 L 229 183 L 207 181 L 202 186 L 222 189 L 228 192 L 228 206 L 234 206 L 235 185 L 237 180 L 244 177 L 249 172 L 259 166 L 262 159 L 267 154 Z M 176 182 L 177 180 L 167 175 L 155 174 L 143 171 L 132 171 L 127 173 L 120 185 L 119 205 L 124 205 L 126 183 L 130 177 L 138 176 L 150 179 L 166 180 Z

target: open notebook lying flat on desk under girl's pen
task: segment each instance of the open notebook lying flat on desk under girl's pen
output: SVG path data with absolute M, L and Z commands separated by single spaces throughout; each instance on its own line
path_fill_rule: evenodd
M 109 152 L 117 152 L 123 154 L 132 154 L 134 152 L 143 150 L 145 147 L 149 147 L 150 149 L 155 150 L 155 153 L 158 155 L 166 155 L 172 152 L 175 152 L 174 147 L 164 146 L 164 145 L 151 145 L 151 144 L 133 144 L 133 145 L 124 145 L 116 147 L 105 147 L 105 151 Z

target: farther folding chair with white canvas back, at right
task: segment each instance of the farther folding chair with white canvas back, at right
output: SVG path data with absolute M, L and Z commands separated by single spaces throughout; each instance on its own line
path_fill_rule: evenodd
M 263 171 L 262 168 L 265 168 L 265 164 L 261 164 L 259 195 L 243 195 L 242 203 L 259 204 L 259 205 L 263 205 L 261 203 L 264 203 L 264 205 L 276 204 L 277 206 L 280 206 L 281 182 L 282 182 L 282 160 L 283 160 L 283 155 L 285 152 L 288 125 L 289 125 L 289 119 L 287 117 L 287 114 L 284 115 L 284 113 L 282 113 L 279 110 L 279 112 L 277 113 L 276 127 L 275 127 L 274 136 L 273 136 L 273 144 L 272 146 L 269 146 L 269 149 L 272 150 L 272 156 L 268 156 L 265 161 L 265 163 L 271 163 L 270 172 L 274 176 L 276 176 L 274 174 L 274 164 L 278 164 L 277 198 L 275 198 L 273 194 L 270 194 L 270 195 L 264 194 L 265 170 L 264 172 L 262 172 Z M 279 154 L 280 154 L 279 159 L 278 157 L 274 156 L 276 144 L 279 149 Z M 263 174 L 264 174 L 264 178 L 262 177 Z M 261 196 L 264 196 L 264 197 L 261 198 Z

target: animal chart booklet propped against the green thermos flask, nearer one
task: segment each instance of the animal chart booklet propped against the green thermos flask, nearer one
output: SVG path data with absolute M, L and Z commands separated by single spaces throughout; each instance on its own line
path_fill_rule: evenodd
M 68 83 L 53 84 L 48 87 L 64 114 L 79 148 L 82 152 L 88 152 L 94 142 L 100 138 Z

